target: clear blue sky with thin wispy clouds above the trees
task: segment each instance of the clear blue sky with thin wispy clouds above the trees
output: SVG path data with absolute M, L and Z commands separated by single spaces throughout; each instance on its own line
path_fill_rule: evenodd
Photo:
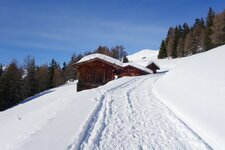
M 27 55 L 38 65 L 121 44 L 132 54 L 158 49 L 170 26 L 205 17 L 224 0 L 0 0 L 0 63 Z

